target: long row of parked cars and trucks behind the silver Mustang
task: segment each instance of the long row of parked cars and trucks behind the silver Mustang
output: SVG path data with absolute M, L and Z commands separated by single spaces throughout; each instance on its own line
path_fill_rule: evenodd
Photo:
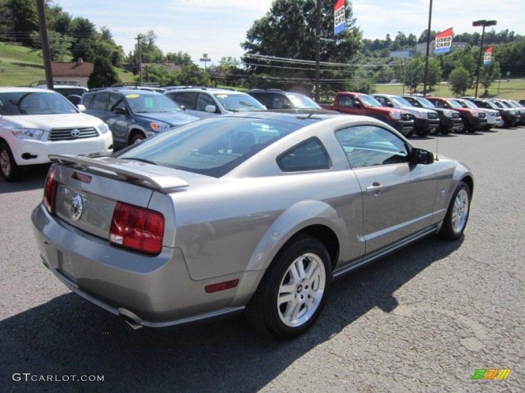
M 365 115 L 391 125 L 406 137 L 414 134 L 426 136 L 430 133 L 475 132 L 492 127 L 510 127 L 525 121 L 525 109 L 518 102 L 511 100 L 482 100 L 473 97 L 470 97 L 470 100 L 423 98 L 411 95 L 340 92 L 335 96 L 332 105 L 319 105 L 307 95 L 280 89 L 254 89 L 244 93 L 233 89 L 201 86 L 160 88 L 158 84 L 138 83 L 90 91 L 76 83 L 57 83 L 54 90 L 67 96 L 68 100 L 75 104 L 73 108 L 65 104 L 64 100 L 60 103 L 56 95 L 47 95 L 46 97 L 53 99 L 49 100 L 43 112 L 35 111 L 34 108 L 27 111 L 27 103 L 36 100 L 40 93 L 53 93 L 44 89 L 41 84 L 43 81 L 35 83 L 39 89 L 25 92 L 22 88 L 8 89 L 17 97 L 5 99 L 5 104 L 0 102 L 0 169 L 8 181 L 19 179 L 28 165 L 48 162 L 49 154 L 110 154 L 113 147 L 127 147 L 199 118 L 235 112 L 271 110 Z M 71 92 L 74 94 L 69 94 Z M 53 108 L 55 104 L 60 108 Z M 66 123 L 57 121 L 57 114 L 69 113 L 71 110 L 77 115 L 79 112 L 85 112 L 82 119 L 96 124 L 95 131 L 91 134 L 85 133 L 86 126 L 77 120 L 80 118 L 78 116 L 69 116 Z M 88 115 L 100 120 L 97 122 Z M 12 128 L 25 131 L 10 132 Z M 110 133 L 104 132 L 107 128 Z M 78 136 L 77 130 L 80 133 Z M 50 143 L 55 141 L 52 138 L 55 138 L 54 135 L 58 132 L 70 133 L 62 140 L 62 145 Z M 104 147 L 94 146 L 95 139 L 89 141 L 90 147 L 87 147 L 87 142 L 82 145 L 77 140 L 87 138 L 88 134 L 92 138 L 105 138 Z M 111 141 L 108 142 L 107 139 Z M 69 148 L 68 141 L 75 143 Z M 81 145 L 84 147 L 81 148 Z

